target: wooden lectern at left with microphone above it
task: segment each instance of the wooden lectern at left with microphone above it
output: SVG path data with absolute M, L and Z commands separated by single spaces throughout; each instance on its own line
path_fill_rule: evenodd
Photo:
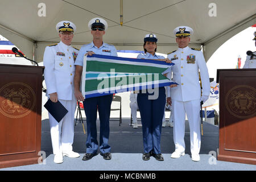
M 0 64 L 0 168 L 40 162 L 43 68 Z

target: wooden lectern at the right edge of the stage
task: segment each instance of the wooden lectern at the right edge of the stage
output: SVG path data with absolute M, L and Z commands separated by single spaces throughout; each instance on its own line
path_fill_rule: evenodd
M 256 69 L 217 69 L 218 160 L 256 164 Z

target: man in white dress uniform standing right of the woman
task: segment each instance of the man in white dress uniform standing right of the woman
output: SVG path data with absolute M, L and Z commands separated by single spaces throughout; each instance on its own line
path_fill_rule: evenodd
M 209 73 L 203 53 L 188 47 L 193 30 L 187 26 L 174 29 L 178 49 L 167 58 L 175 65 L 171 67 L 172 81 L 177 85 L 169 88 L 167 103 L 174 112 L 175 151 L 171 158 L 179 158 L 185 154 L 185 113 L 187 113 L 190 129 L 191 154 L 193 161 L 199 161 L 200 136 L 200 101 L 207 101 L 210 94 Z M 203 86 L 201 96 L 199 69 Z

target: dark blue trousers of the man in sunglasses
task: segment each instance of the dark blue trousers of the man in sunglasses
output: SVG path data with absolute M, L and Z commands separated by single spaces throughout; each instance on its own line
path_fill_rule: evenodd
M 97 110 L 100 117 L 100 151 L 102 154 L 110 152 L 109 146 L 109 117 L 113 94 L 100 97 L 86 98 L 84 110 L 86 115 L 87 140 L 86 153 L 95 154 L 98 150 L 97 141 Z

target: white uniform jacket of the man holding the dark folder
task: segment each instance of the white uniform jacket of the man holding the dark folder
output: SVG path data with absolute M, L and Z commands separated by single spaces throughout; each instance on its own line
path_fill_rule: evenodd
M 46 80 L 46 96 L 57 93 L 60 100 L 72 100 L 75 76 L 74 62 L 78 49 L 60 42 L 47 46 L 44 51 L 44 79 Z

